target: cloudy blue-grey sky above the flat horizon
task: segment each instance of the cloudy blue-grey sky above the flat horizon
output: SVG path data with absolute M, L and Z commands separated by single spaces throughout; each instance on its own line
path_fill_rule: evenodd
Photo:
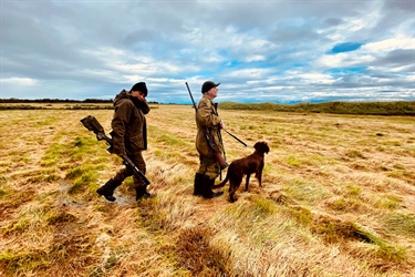
M 415 0 L 1 0 L 1 99 L 415 100 Z

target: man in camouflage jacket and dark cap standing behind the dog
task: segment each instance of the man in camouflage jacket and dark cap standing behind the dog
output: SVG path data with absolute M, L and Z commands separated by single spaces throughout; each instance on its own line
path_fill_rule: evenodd
M 219 176 L 220 165 L 215 154 L 224 156 L 224 144 L 220 137 L 220 129 L 224 124 L 217 113 L 214 99 L 218 95 L 218 85 L 207 81 L 201 86 L 203 96 L 196 112 L 196 148 L 199 153 L 200 165 L 195 176 L 194 195 L 205 198 L 220 196 L 224 192 L 214 193 L 211 186 Z M 206 133 L 208 134 L 208 138 Z

